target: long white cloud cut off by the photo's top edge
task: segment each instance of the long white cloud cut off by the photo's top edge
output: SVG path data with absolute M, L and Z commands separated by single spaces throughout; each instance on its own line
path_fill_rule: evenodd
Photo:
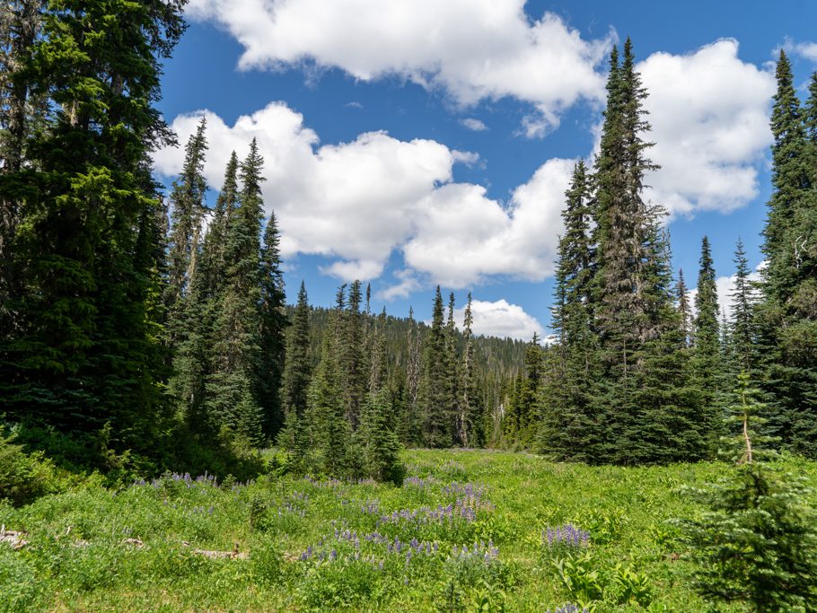
M 399 75 L 468 106 L 512 96 L 558 125 L 601 100 L 596 66 L 611 36 L 585 40 L 558 15 L 531 21 L 525 0 L 192 0 L 188 14 L 230 31 L 243 69 L 310 63 L 370 81 Z

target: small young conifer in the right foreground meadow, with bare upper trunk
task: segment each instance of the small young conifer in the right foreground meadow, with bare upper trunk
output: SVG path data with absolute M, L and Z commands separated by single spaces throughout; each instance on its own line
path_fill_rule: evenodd
M 746 373 L 734 393 L 730 421 L 737 428 L 724 441 L 737 466 L 716 484 L 690 489 L 707 510 L 678 522 L 696 563 L 696 588 L 707 600 L 741 602 L 759 613 L 813 610 L 817 517 L 804 502 L 812 492 L 762 461 L 760 444 L 770 442 L 757 433 L 764 406 Z

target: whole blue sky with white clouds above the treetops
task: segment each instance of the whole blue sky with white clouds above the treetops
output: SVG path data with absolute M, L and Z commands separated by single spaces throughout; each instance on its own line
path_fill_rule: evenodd
M 690 285 L 701 237 L 728 293 L 734 241 L 760 263 L 776 50 L 817 68 L 817 4 L 523 0 L 192 0 L 165 65 L 183 143 L 206 111 L 206 175 L 256 136 L 282 228 L 290 300 L 329 305 L 355 277 L 373 308 L 430 314 L 434 286 L 473 293 L 487 334 L 547 333 L 559 210 L 590 159 L 611 45 L 633 39 Z M 802 91 L 801 91 L 802 92 Z M 181 149 L 155 154 L 169 183 Z M 214 198 L 215 199 L 215 198 Z

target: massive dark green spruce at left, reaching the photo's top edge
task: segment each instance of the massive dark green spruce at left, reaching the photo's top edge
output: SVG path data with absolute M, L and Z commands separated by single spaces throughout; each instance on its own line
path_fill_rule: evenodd
M 50 111 L 26 135 L 25 168 L 0 181 L 25 185 L 13 250 L 22 315 L 0 351 L 0 411 L 62 433 L 105 428 L 119 450 L 154 451 L 163 424 L 155 276 L 145 268 L 156 240 L 149 154 L 172 140 L 154 103 L 183 4 L 49 3 L 26 76 L 13 83 L 34 87 Z

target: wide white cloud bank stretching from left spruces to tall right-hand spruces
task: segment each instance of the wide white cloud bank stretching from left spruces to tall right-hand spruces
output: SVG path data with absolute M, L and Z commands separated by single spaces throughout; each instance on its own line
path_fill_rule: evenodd
M 479 185 L 452 182 L 455 163 L 479 156 L 435 141 L 372 132 L 319 146 L 300 114 L 272 103 L 233 126 L 206 110 L 181 115 L 172 123 L 180 142 L 202 115 L 209 143 L 205 175 L 216 189 L 230 153 L 242 156 L 257 139 L 265 204 L 276 212 L 285 257 L 323 255 L 331 259 L 321 267 L 324 274 L 367 280 L 381 276 L 392 252 L 402 250 L 409 272 L 382 291 L 387 299 L 417 289 L 415 273 L 452 288 L 489 276 L 541 280 L 552 274 L 572 160 L 545 162 L 503 206 Z M 154 155 L 156 169 L 174 176 L 183 156 L 180 147 L 163 149 Z

